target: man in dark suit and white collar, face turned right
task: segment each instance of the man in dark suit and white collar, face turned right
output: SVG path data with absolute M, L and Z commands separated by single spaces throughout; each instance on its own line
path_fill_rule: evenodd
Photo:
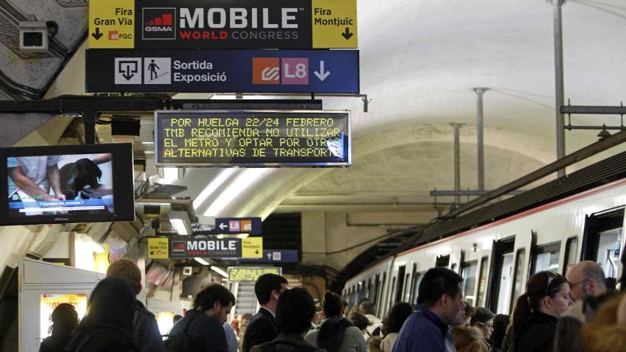
M 243 352 L 252 346 L 272 341 L 278 336 L 276 304 L 282 292 L 287 291 L 287 279 L 277 274 L 261 275 L 255 282 L 255 294 L 261 305 L 258 313 L 250 319 L 243 336 Z

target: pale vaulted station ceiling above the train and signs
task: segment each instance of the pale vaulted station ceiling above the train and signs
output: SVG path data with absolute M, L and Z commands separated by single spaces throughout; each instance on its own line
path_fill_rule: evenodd
M 462 189 L 477 186 L 472 87 L 488 87 L 486 186 L 512 181 L 556 159 L 552 11 L 543 0 L 359 0 L 361 92 L 373 100 L 364 112 L 360 98 L 323 98 L 325 109 L 353 111 L 353 166 L 193 169 L 181 181 L 152 179 L 188 186 L 199 215 L 331 208 L 432 212 L 429 192 L 454 185 L 450 122 L 465 124 Z M 16 21 L 28 14 L 58 23 L 55 50 L 16 50 Z M 38 90 L 47 90 L 47 97 L 83 94 L 87 1 L 0 1 L 0 21 L 6 76 L 0 91 L 6 99 L 24 91 L 43 94 Z M 626 97 L 625 30 L 623 1 L 569 0 L 563 6 L 565 95 L 572 105 L 619 105 Z M 578 115 L 572 123 L 620 120 Z M 597 133 L 566 132 L 567 151 L 595 142 Z M 142 138 L 150 137 L 148 131 Z

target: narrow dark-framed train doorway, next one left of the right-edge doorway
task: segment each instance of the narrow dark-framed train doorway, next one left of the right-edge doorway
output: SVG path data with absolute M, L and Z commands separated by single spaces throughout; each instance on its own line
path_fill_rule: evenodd
M 513 283 L 515 238 L 494 242 L 491 277 L 487 290 L 487 308 L 496 314 L 509 314 Z

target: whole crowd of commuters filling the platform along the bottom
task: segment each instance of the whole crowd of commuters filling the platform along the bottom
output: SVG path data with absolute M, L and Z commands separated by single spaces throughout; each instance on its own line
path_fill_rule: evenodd
M 110 265 L 80 323 L 70 304 L 54 309 L 51 336 L 40 352 L 626 351 L 626 295 L 612 292 L 602 267 L 589 261 L 571 267 L 566 277 L 532 274 L 510 319 L 470 306 L 462 278 L 441 267 L 424 274 L 415 306 L 398 302 L 384 319 L 368 299 L 347 309 L 333 292 L 324 294 L 316 314 L 306 289 L 290 289 L 285 277 L 264 274 L 255 282 L 260 309 L 228 323 L 235 297 L 221 284 L 209 284 L 185 316 L 174 317 L 166 341 L 154 315 L 135 298 L 141 276 L 132 260 Z

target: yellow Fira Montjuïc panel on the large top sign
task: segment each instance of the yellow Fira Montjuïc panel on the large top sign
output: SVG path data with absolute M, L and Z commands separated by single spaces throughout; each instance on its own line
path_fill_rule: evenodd
M 311 0 L 313 48 L 358 48 L 356 0 Z

